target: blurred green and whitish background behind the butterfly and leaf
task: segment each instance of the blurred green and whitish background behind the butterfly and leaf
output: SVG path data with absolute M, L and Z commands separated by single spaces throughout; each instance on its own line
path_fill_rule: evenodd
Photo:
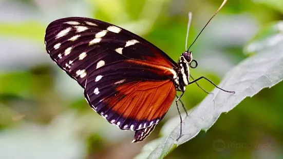
M 101 19 L 144 37 L 177 61 L 185 49 L 188 11 L 193 12 L 191 44 L 221 3 L 0 0 L 0 158 L 134 158 L 178 114 L 173 104 L 152 135 L 131 144 L 134 132 L 122 131 L 92 111 L 83 89 L 46 53 L 44 33 L 50 22 L 67 16 Z M 247 57 L 243 47 L 257 31 L 282 17 L 283 1 L 228 1 L 191 48 L 199 63 L 192 75 L 219 83 Z M 279 83 L 247 98 L 166 158 L 283 158 L 282 92 Z M 190 85 L 182 100 L 190 109 L 205 95 Z

